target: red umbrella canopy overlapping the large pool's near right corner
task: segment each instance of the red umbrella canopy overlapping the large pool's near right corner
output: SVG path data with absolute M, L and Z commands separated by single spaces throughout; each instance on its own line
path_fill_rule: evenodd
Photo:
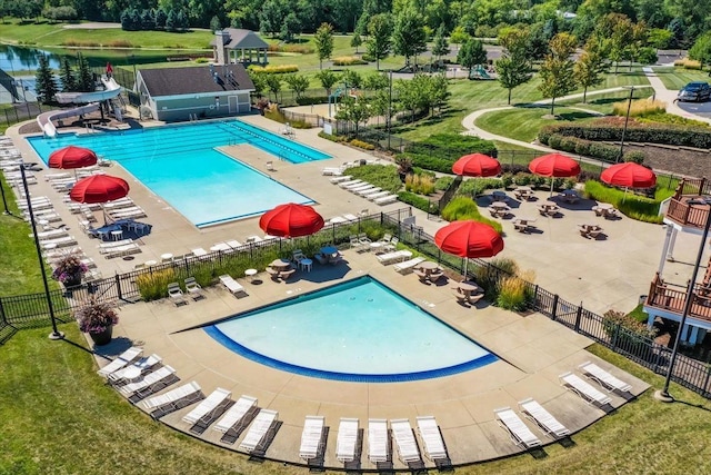
M 323 227 L 323 218 L 310 206 L 288 202 L 264 212 L 259 227 L 271 236 L 309 236 Z

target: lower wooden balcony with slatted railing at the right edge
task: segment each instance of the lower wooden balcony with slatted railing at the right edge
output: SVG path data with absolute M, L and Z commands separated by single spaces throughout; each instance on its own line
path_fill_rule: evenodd
M 678 314 L 681 317 L 685 300 L 687 287 L 667 284 L 659 274 L 657 274 L 650 286 L 644 305 Z M 711 287 L 704 287 L 701 284 L 694 286 L 688 317 L 711 321 Z

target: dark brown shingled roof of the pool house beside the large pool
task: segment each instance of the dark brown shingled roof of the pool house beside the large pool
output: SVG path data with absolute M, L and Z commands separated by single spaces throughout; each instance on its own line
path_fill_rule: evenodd
M 141 69 L 139 73 L 152 97 L 254 90 L 242 65 Z

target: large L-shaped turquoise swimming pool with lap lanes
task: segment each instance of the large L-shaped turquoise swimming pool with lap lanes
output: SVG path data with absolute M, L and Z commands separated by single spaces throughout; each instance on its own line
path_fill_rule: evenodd
M 44 162 L 68 145 L 118 161 L 198 227 L 260 215 L 284 202 L 313 202 L 216 147 L 250 144 L 294 164 L 329 158 L 239 120 L 28 140 Z

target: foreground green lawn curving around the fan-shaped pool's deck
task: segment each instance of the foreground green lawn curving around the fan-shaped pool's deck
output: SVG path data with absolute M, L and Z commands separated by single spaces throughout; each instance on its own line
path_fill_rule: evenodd
M 50 342 L 48 329 L 40 328 L 22 330 L 0 347 L 0 473 L 269 475 L 307 471 L 248 462 L 243 455 L 153 422 L 94 373 L 96 364 L 77 326 L 60 328 L 67 334 L 66 342 Z M 591 349 L 661 387 L 662 377 L 602 347 Z M 663 404 L 652 398 L 652 392 L 574 434 L 571 445 L 547 446 L 542 458 L 522 454 L 458 467 L 455 473 L 709 473 L 709 400 L 672 385 L 679 403 Z

